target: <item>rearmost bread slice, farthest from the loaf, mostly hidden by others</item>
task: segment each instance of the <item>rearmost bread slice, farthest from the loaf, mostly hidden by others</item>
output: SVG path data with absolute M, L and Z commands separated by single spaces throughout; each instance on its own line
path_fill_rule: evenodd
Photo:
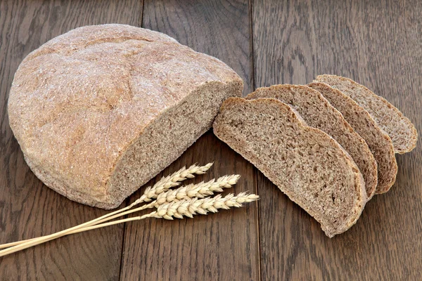
M 411 124 L 410 120 L 385 98 L 377 96 L 365 86 L 345 77 L 324 74 L 316 77 L 315 81 L 326 83 L 342 91 L 369 112 L 378 126 L 390 136 L 396 153 L 403 154 L 416 147 L 418 132 L 414 124 Z

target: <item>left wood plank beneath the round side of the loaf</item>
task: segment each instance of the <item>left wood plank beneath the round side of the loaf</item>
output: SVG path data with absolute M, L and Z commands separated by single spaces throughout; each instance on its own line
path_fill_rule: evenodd
M 141 23 L 141 1 L 0 2 L 0 241 L 38 237 L 106 211 L 68 200 L 30 171 L 7 117 L 7 98 L 19 63 L 47 40 L 82 25 Z M 123 227 L 63 237 L 1 258 L 7 280 L 118 280 Z

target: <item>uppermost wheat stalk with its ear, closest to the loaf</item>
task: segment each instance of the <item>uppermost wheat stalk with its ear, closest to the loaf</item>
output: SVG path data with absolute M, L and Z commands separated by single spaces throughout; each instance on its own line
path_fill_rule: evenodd
M 169 190 L 170 188 L 179 185 L 181 181 L 184 181 L 187 178 L 194 178 L 195 175 L 205 174 L 205 172 L 208 169 L 210 169 L 212 164 L 213 163 L 208 163 L 205 166 L 198 166 L 196 164 L 193 164 L 192 166 L 188 167 L 188 169 L 186 169 L 186 166 L 184 166 L 183 168 L 179 169 L 179 171 L 174 172 L 170 176 L 166 176 L 165 178 L 161 178 L 160 181 L 155 183 L 155 185 L 153 185 L 152 187 L 150 186 L 150 187 L 146 188 L 145 192 L 143 192 L 143 195 L 141 197 L 139 197 L 138 200 L 136 200 L 135 202 L 130 204 L 129 206 L 124 207 L 122 209 L 118 209 L 118 210 L 113 211 L 109 214 L 105 214 L 105 215 L 100 216 L 99 218 L 95 218 L 91 221 L 87 221 L 86 223 L 79 224 L 78 226 L 74 226 L 72 228 L 62 230 L 59 233 L 65 235 L 65 233 L 72 231 L 72 230 L 76 230 L 76 229 L 79 229 L 79 228 L 85 228 L 85 227 L 88 227 L 88 226 L 93 226 L 97 223 L 100 223 L 101 221 L 108 221 L 108 220 L 111 219 L 109 217 L 111 217 L 111 216 L 116 217 L 117 214 L 120 214 L 120 213 L 123 213 L 124 211 L 129 210 L 132 207 L 134 207 L 136 204 L 140 204 L 141 202 L 151 201 L 153 198 L 156 198 L 160 193 L 165 192 L 165 191 Z M 106 218 L 109 218 L 109 219 L 106 220 Z M 56 234 L 58 234 L 58 233 L 54 233 L 54 234 L 51 234 L 51 235 L 56 235 Z M 44 236 L 41 236 L 41 237 L 31 238 L 31 239 L 27 239 L 27 240 L 21 240 L 21 241 L 18 241 L 18 242 L 1 244 L 0 249 L 13 247 L 15 245 L 24 244 L 24 243 L 27 243 L 27 242 L 32 242 L 34 240 L 40 240 L 40 239 L 43 239 L 43 238 L 51 237 L 51 235 L 44 235 Z

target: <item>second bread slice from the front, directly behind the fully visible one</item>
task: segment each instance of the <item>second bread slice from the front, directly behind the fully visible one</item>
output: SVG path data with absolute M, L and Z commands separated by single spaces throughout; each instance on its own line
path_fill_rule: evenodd
M 365 180 L 366 195 L 370 199 L 378 181 L 376 161 L 364 139 L 347 123 L 324 96 L 303 85 L 275 85 L 257 89 L 246 99 L 276 98 L 292 105 L 305 122 L 328 133 L 352 156 Z

